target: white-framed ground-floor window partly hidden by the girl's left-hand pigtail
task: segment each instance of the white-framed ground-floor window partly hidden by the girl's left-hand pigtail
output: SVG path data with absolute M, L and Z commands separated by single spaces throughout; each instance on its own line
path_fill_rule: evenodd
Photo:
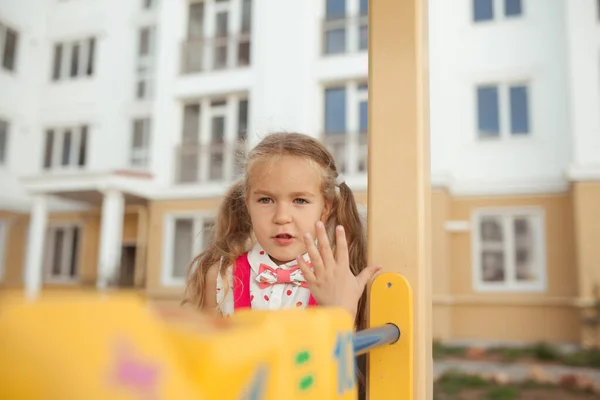
M 184 284 L 190 262 L 208 248 L 214 224 L 214 216 L 207 214 L 166 217 L 163 284 Z

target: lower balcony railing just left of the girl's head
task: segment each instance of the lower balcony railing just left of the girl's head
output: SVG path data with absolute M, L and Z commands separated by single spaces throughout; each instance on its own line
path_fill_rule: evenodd
M 246 153 L 246 144 L 196 143 L 182 144 L 177 147 L 175 160 L 176 183 L 209 183 L 230 182 L 240 177 L 242 165 L 240 160 Z

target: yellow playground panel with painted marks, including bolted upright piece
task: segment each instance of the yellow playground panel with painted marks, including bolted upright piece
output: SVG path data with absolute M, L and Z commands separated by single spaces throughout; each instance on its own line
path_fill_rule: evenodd
M 0 302 L 2 399 L 356 399 L 355 355 L 372 351 L 371 399 L 412 398 L 412 302 L 393 273 L 374 282 L 371 322 L 341 309 L 230 319 L 141 300 L 72 294 Z

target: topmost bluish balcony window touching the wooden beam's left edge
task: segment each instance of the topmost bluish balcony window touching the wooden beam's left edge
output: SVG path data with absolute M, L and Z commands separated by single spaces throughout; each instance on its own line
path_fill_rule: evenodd
M 368 7 L 368 0 L 325 0 L 324 54 L 367 50 Z M 357 10 L 357 12 L 349 10 Z

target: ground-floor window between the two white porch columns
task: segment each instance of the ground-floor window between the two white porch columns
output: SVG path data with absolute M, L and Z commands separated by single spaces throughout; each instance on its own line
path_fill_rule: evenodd
M 44 270 L 48 282 L 72 282 L 79 275 L 82 229 L 77 224 L 52 224 L 46 237 Z

